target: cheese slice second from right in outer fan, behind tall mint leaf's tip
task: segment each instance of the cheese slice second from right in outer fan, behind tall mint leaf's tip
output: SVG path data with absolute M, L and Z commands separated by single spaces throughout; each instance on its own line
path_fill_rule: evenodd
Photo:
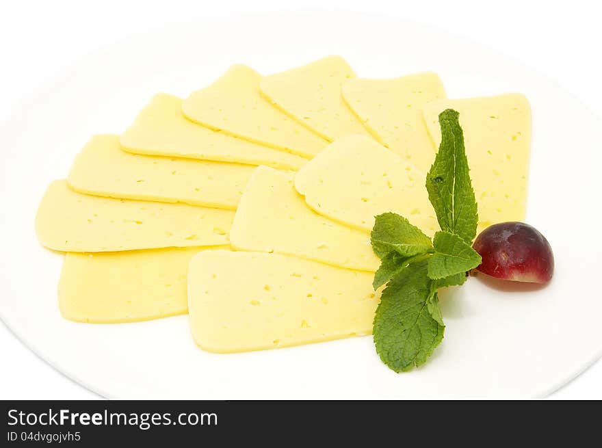
M 384 146 L 428 172 L 436 148 L 428 135 L 422 107 L 445 98 L 439 76 L 420 73 L 395 79 L 353 79 L 343 98 Z

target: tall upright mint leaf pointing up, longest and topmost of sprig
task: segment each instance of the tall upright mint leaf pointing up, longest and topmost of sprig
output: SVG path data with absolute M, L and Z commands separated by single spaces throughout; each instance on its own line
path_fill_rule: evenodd
M 441 145 L 426 176 L 426 189 L 441 230 L 470 244 L 477 233 L 477 202 L 458 116 L 454 109 L 439 114 Z

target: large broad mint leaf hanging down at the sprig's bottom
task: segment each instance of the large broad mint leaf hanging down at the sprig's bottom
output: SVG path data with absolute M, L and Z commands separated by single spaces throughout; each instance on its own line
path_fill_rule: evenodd
M 425 363 L 443 339 L 445 326 L 428 310 L 432 280 L 427 269 L 426 257 L 402 269 L 389 281 L 376 308 L 376 352 L 396 372 Z

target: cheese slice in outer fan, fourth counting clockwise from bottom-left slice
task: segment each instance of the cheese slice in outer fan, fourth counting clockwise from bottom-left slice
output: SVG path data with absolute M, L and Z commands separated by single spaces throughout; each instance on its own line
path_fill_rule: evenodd
M 135 154 L 267 165 L 283 170 L 295 170 L 307 161 L 187 120 L 182 114 L 181 98 L 164 93 L 153 96 L 121 135 L 120 143 Z

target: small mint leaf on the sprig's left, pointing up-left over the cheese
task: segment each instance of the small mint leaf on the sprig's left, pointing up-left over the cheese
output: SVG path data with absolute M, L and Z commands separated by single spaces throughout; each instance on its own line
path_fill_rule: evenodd
M 380 259 L 393 251 L 414 256 L 432 250 L 430 238 L 397 213 L 377 215 L 370 237 L 372 250 Z

